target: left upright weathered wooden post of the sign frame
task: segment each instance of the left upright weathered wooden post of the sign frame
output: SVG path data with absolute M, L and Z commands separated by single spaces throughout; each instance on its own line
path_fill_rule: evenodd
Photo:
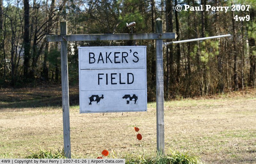
M 60 34 L 67 34 L 66 21 L 60 22 Z M 62 114 L 63 114 L 63 140 L 65 157 L 71 158 L 70 123 L 69 123 L 69 92 L 68 92 L 68 53 L 67 42 L 61 42 L 61 89 L 62 89 Z

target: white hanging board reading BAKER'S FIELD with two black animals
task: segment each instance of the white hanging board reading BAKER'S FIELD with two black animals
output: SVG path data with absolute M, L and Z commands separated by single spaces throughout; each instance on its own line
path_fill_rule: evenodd
M 146 46 L 78 47 L 80 113 L 147 111 Z

